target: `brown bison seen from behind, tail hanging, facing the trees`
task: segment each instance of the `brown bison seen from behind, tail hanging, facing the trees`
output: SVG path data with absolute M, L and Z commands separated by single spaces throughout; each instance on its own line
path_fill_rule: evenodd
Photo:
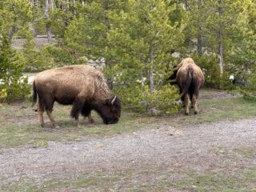
M 205 77 L 192 58 L 184 58 L 178 65 L 176 82 L 181 90 L 181 99 L 186 104 L 186 114 L 190 113 L 191 101 L 194 114 L 198 114 L 198 93 L 205 82 Z

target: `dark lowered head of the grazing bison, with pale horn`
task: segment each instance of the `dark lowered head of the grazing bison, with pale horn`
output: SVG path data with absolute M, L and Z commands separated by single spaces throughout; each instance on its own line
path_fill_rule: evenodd
M 106 101 L 97 108 L 98 114 L 101 115 L 105 124 L 116 123 L 121 116 L 121 101 L 117 96 L 106 99 Z

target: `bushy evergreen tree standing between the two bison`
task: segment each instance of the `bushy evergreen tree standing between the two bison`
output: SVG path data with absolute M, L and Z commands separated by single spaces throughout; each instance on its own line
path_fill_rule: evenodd
M 174 87 L 161 89 L 162 80 L 172 72 L 166 67 L 172 60 L 170 50 L 179 50 L 183 41 L 184 26 L 170 21 L 176 6 L 166 1 L 129 1 L 129 10 L 110 13 L 108 54 L 114 58 L 115 81 L 125 86 L 124 101 L 150 109 L 161 107 L 161 100 L 171 104 L 176 98 Z

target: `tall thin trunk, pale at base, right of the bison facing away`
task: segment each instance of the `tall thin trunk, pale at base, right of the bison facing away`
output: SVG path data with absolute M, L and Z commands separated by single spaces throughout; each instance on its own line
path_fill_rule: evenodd
M 223 14 L 223 8 L 222 8 L 222 0 L 218 0 L 218 15 L 219 15 L 219 31 L 218 31 L 218 58 L 219 58 L 219 70 L 220 73 L 223 74 L 224 71 L 224 42 L 223 42 L 223 34 L 224 34 L 224 26 L 222 23 L 222 14 Z

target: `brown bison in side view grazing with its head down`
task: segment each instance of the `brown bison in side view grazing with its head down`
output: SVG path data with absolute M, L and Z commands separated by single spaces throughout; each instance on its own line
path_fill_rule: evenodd
M 77 125 L 80 113 L 93 121 L 91 110 L 96 110 L 106 124 L 118 122 L 121 115 L 120 100 L 110 95 L 102 72 L 92 66 L 64 66 L 38 73 L 33 82 L 34 103 L 37 95 L 41 126 L 44 126 L 42 114 L 45 110 L 50 122 L 57 126 L 52 116 L 55 101 L 73 105 L 70 115 Z

